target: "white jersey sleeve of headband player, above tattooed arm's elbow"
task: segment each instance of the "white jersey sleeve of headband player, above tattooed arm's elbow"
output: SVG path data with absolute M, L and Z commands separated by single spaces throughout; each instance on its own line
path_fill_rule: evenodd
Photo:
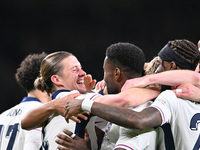
M 150 107 L 156 108 L 162 117 L 162 124 L 169 123 L 176 107 L 177 97 L 171 90 L 162 92 Z

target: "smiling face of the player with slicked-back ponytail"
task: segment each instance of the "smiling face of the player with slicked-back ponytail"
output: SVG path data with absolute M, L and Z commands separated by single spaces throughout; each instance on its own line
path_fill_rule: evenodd
M 78 90 L 80 93 L 85 93 L 84 85 L 85 71 L 82 70 L 80 62 L 75 56 L 69 56 L 61 61 L 62 71 L 57 74 L 58 89 Z

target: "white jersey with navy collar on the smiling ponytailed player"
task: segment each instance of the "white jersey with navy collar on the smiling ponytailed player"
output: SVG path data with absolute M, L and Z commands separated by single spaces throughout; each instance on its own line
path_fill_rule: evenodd
M 78 91 L 68 91 L 68 90 L 59 90 L 53 94 L 53 99 L 59 99 L 66 95 L 78 93 Z M 78 96 L 76 99 L 83 99 L 83 98 L 90 98 L 97 93 L 87 93 Z M 95 133 L 95 116 L 90 118 L 90 121 L 87 123 L 86 121 L 82 120 L 81 123 L 76 123 L 73 120 L 69 120 L 69 123 L 66 122 L 65 118 L 61 115 L 54 113 L 49 117 L 46 121 L 45 126 L 43 127 L 42 134 L 43 134 L 43 142 L 42 148 L 44 150 L 56 150 L 58 144 L 55 142 L 57 135 L 63 132 L 63 129 L 67 129 L 76 135 L 83 137 L 84 129 L 88 131 L 89 137 L 91 139 L 92 149 L 97 149 L 97 137 Z

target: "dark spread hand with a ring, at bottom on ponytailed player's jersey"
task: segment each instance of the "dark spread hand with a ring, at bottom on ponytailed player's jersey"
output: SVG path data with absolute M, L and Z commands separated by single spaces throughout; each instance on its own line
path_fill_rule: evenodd
M 89 135 L 85 132 L 84 139 L 78 136 L 72 136 L 72 132 L 64 129 L 64 134 L 58 134 L 56 139 L 56 143 L 59 144 L 57 147 L 59 150 L 90 150 L 90 140 Z

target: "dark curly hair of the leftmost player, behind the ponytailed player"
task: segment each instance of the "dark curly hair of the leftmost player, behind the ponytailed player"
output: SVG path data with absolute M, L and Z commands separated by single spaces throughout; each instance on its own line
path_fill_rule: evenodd
M 15 78 L 17 83 L 27 92 L 35 89 L 34 81 L 40 75 L 40 64 L 47 56 L 45 52 L 41 54 L 30 54 L 20 64 Z

